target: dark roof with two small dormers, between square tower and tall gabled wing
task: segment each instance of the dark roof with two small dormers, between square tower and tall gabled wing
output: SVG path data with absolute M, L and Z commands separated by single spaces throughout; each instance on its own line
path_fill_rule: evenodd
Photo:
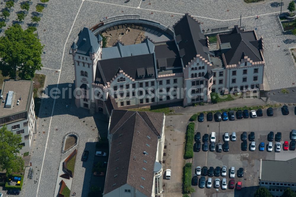
M 153 54 L 99 60 L 95 78 L 101 78 L 101 84 L 104 85 L 110 82 L 112 78 L 117 75 L 119 70 L 123 70 L 123 72 L 135 80 L 155 78 L 154 63 Z M 146 68 L 150 67 L 153 68 L 153 76 L 148 76 L 147 72 L 145 72 Z M 138 77 L 137 69 L 144 69 L 144 77 Z

